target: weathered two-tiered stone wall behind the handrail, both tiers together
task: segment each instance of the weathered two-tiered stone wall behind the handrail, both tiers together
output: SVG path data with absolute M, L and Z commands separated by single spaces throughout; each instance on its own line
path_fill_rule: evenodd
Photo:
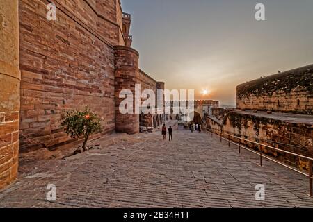
M 313 157 L 312 71 L 307 65 L 237 86 L 237 110 L 212 109 L 207 128 L 241 137 L 231 139 L 307 171 L 307 160 L 243 139 Z

